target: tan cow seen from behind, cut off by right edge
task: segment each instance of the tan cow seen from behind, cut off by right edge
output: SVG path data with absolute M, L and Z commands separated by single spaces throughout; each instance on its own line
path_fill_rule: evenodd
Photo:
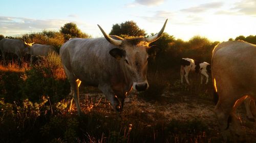
M 239 139 L 243 139 L 245 135 L 235 111 L 239 102 L 246 96 L 255 100 L 255 55 L 256 45 L 243 41 L 223 42 L 212 51 L 211 74 L 215 85 L 215 97 L 218 97 L 215 113 L 225 139 L 229 122 Z

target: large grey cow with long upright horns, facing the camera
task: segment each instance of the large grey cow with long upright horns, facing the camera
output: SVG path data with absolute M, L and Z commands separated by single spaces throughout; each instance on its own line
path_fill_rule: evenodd
M 132 88 L 137 91 L 148 88 L 148 44 L 162 35 L 166 22 L 167 19 L 158 34 L 148 38 L 109 36 L 98 25 L 104 37 L 74 38 L 60 47 L 61 63 L 71 84 L 70 94 L 78 115 L 81 82 L 98 87 L 117 111 L 122 111 L 124 98 Z

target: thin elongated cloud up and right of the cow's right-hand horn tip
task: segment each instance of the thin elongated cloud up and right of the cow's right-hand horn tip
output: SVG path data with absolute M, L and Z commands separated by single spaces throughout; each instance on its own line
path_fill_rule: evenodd
M 223 6 L 222 2 L 214 2 L 214 3 L 206 3 L 206 4 L 201 4 L 196 7 L 190 7 L 187 9 L 182 9 L 182 12 L 190 12 L 190 13 L 201 13 L 205 12 L 210 9 L 217 9 Z

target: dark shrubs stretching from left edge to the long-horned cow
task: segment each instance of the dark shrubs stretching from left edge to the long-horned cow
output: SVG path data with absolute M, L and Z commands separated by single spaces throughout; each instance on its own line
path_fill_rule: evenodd
M 6 102 L 26 98 L 37 102 L 41 96 L 49 96 L 52 102 L 57 102 L 69 92 L 70 85 L 61 67 L 60 58 L 54 53 L 44 58 L 40 65 L 24 71 L 14 71 L 0 71 L 0 97 Z

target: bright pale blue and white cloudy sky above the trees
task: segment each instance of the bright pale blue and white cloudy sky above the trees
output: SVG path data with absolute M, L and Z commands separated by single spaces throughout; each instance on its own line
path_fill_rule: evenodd
M 103 36 L 97 24 L 110 33 L 113 24 L 133 20 L 150 35 L 158 33 L 167 18 L 164 32 L 185 41 L 193 36 L 227 41 L 256 35 L 255 0 L 1 1 L 0 34 L 59 31 L 65 23 L 74 22 L 96 38 Z

